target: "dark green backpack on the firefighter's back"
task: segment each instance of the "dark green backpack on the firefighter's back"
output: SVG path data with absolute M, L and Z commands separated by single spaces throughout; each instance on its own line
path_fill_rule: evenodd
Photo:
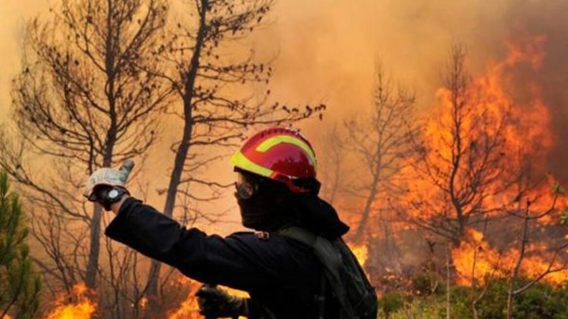
M 278 230 L 277 233 L 312 248 L 323 266 L 325 281 L 331 286 L 332 294 L 341 306 L 341 319 L 377 318 L 375 288 L 341 238 L 328 240 L 296 226 Z

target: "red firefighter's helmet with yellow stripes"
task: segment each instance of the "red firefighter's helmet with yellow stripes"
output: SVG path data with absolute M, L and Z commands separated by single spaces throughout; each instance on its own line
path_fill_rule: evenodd
M 291 128 L 269 128 L 250 137 L 231 158 L 238 169 L 286 183 L 293 192 L 306 192 L 295 179 L 316 177 L 316 156 L 310 142 Z

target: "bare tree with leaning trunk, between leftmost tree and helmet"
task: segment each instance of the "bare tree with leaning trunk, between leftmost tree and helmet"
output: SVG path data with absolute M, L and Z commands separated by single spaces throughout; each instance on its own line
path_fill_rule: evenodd
M 193 19 L 172 24 L 175 26 L 170 36 L 172 41 L 156 52 L 173 65 L 174 72 L 161 76 L 176 91 L 181 106 L 173 111 L 173 115 L 183 121 L 181 137 L 172 145 L 175 156 L 164 190 L 165 215 L 173 215 L 178 196 L 189 196 L 193 200 L 215 198 L 198 198 L 183 192 L 182 185 L 211 187 L 214 194 L 222 188 L 222 184 L 199 173 L 223 158 L 219 156 L 220 149 L 236 146 L 243 139 L 246 128 L 290 123 L 325 108 L 323 105 L 307 106 L 300 111 L 278 103 L 269 106 L 265 104 L 269 90 L 260 99 L 256 96 L 256 102 L 254 94 L 243 94 L 249 83 L 268 84 L 272 66 L 256 61 L 254 51 L 243 57 L 230 54 L 227 48 L 262 26 L 273 4 L 274 0 L 194 0 L 184 3 Z M 152 300 L 158 299 L 159 276 L 160 263 L 153 262 L 149 275 Z

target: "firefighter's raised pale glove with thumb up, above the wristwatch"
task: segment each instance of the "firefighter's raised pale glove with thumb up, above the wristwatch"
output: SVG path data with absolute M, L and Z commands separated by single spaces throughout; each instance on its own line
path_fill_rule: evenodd
M 118 186 L 125 188 L 124 186 L 128 179 L 128 175 L 130 175 L 130 172 L 132 171 L 132 167 L 134 167 L 134 161 L 132 161 L 132 159 L 127 159 L 118 170 L 111 169 L 110 167 L 102 167 L 96 170 L 95 173 L 87 179 L 83 196 L 91 202 L 97 202 L 98 198 L 95 190 L 99 190 L 104 186 Z

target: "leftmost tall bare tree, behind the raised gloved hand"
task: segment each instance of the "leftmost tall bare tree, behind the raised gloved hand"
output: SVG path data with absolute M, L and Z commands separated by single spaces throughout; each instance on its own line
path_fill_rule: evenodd
M 63 0 L 53 19 L 30 23 L 12 89 L 16 132 L 3 135 L 0 165 L 33 203 L 48 257 L 37 263 L 53 292 L 78 280 L 95 287 L 101 271 L 102 211 L 82 198 L 85 178 L 156 141 L 173 92 L 153 54 L 167 9 L 161 0 Z

